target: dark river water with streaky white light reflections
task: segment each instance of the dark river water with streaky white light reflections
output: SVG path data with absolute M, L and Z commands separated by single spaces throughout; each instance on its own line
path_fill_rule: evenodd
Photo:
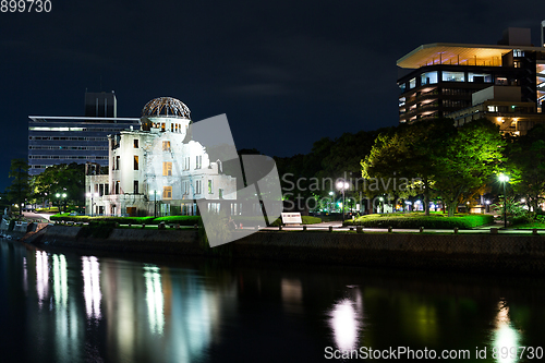
M 1 241 L 0 362 L 538 362 L 544 287 Z

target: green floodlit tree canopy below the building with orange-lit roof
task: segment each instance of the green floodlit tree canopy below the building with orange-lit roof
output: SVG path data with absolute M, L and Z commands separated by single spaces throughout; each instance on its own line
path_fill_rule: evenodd
M 426 214 L 434 192 L 452 216 L 463 195 L 474 194 L 497 172 L 504 145 L 499 130 L 487 120 L 461 128 L 455 128 L 449 119 L 420 121 L 379 135 L 361 161 L 362 176 L 419 180 Z

